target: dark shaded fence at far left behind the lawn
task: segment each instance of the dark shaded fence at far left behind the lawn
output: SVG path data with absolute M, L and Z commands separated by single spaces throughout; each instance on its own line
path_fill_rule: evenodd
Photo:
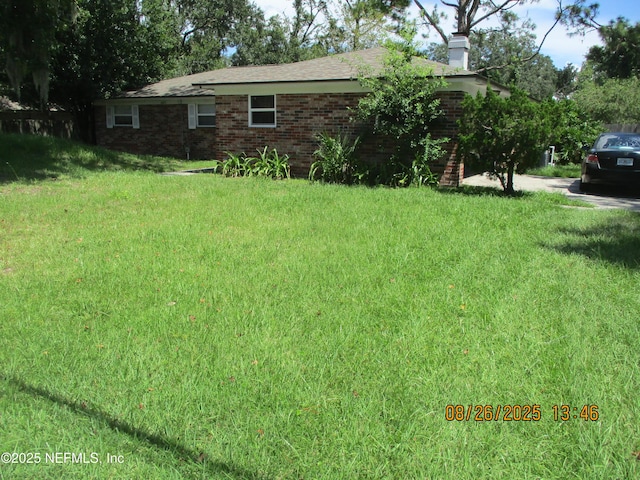
M 60 138 L 78 138 L 71 113 L 14 110 L 0 112 L 0 133 L 28 133 Z

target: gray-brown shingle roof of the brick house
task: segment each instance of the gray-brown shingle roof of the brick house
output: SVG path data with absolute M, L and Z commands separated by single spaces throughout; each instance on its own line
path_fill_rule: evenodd
M 215 93 L 211 89 L 201 87 L 215 88 L 216 85 L 354 80 L 358 77 L 363 66 L 369 67 L 372 74 L 379 72 L 385 54 L 386 49 L 378 47 L 296 63 L 222 68 L 162 80 L 140 90 L 125 92 L 120 95 L 120 98 L 207 96 Z M 420 61 L 425 65 L 432 66 L 434 73 L 438 75 L 466 76 L 472 74 L 472 72 L 460 71 L 442 63 L 429 60 Z

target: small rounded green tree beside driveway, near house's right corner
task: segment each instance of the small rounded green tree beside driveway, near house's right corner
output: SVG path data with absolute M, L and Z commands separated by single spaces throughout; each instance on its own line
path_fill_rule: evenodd
M 537 103 L 514 88 L 503 98 L 490 87 L 486 95 L 468 95 L 462 103 L 460 150 L 465 162 L 483 167 L 515 193 L 513 175 L 534 166 L 549 145 L 552 103 Z

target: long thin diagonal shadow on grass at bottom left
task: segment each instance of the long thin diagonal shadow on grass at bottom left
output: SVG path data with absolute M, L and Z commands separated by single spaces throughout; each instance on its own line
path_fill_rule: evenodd
M 56 405 L 66 407 L 75 414 L 88 416 L 98 420 L 115 432 L 125 433 L 139 442 L 146 442 L 156 449 L 169 452 L 178 462 L 186 465 L 191 464 L 196 467 L 199 472 L 205 472 L 208 478 L 218 478 L 220 475 L 224 475 L 225 478 L 237 478 L 243 480 L 266 480 L 268 478 L 229 463 L 209 460 L 206 458 L 204 452 L 192 450 L 175 440 L 133 427 L 122 420 L 113 418 L 97 408 L 91 408 L 83 403 L 70 400 L 60 394 L 50 392 L 44 388 L 29 385 L 19 378 L 9 378 L 0 375 L 0 379 L 7 381 L 14 387 L 18 388 L 21 392 L 31 395 L 32 397 L 39 397 Z M 200 478 L 200 475 L 198 475 L 198 478 Z

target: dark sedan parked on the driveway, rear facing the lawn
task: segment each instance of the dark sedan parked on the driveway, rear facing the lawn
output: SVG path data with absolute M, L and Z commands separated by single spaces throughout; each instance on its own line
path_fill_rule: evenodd
M 580 189 L 594 184 L 640 186 L 640 134 L 603 133 L 582 161 Z

